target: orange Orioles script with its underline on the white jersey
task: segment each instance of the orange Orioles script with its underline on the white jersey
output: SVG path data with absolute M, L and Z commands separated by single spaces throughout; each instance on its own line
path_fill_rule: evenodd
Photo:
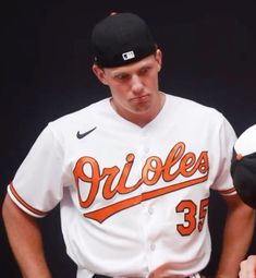
M 168 154 L 166 161 L 163 162 L 157 156 L 148 157 L 142 168 L 141 179 L 134 185 L 127 186 L 126 181 L 133 167 L 134 159 L 134 154 L 129 154 L 122 170 L 117 166 L 103 168 L 100 170 L 99 164 L 96 159 L 88 156 L 81 157 L 73 170 L 81 207 L 86 208 L 93 204 L 98 193 L 100 181 L 103 179 L 106 180 L 102 186 L 102 196 L 106 200 L 110 200 L 115 194 L 127 194 L 133 192 L 137 190 L 142 184 L 149 186 L 154 185 L 160 178 L 164 182 L 171 182 L 180 174 L 185 178 L 190 178 L 198 171 L 200 172 L 200 177 L 187 179 L 184 182 L 171 184 L 166 188 L 144 192 L 137 196 L 132 196 L 97 210 L 89 211 L 85 214 L 85 217 L 97 220 L 98 222 L 102 222 L 109 216 L 122 209 L 135 206 L 136 204 L 146 200 L 150 200 L 180 189 L 202 183 L 208 178 L 209 162 L 207 152 L 202 152 L 196 158 L 194 153 L 185 153 L 185 144 L 182 142 L 179 142 L 176 145 L 174 145 L 174 147 Z M 90 176 L 85 174 L 83 170 L 85 166 L 90 167 Z M 171 172 L 173 166 L 175 166 L 175 170 Z M 117 176 L 120 172 L 120 178 L 117 179 Z M 82 200 L 81 197 L 80 181 L 85 182 L 86 186 L 90 186 L 86 200 Z

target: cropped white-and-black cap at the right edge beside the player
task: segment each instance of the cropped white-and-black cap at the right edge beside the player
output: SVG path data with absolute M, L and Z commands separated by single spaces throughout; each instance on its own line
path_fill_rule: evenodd
M 235 142 L 231 176 L 242 201 L 256 208 L 256 124 L 245 130 Z

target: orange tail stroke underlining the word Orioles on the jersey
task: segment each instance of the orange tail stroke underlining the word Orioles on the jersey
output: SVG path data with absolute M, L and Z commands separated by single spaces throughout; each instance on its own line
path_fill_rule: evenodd
M 194 180 L 190 180 L 190 181 L 185 181 L 185 182 L 181 182 L 181 183 L 176 183 L 176 184 L 171 184 L 169 186 L 158 189 L 158 190 L 153 190 L 150 192 L 144 192 L 138 196 L 123 200 L 123 201 L 112 204 L 110 206 L 106 206 L 100 209 L 87 213 L 84 216 L 87 218 L 94 219 L 98 222 L 102 222 L 111 215 L 113 215 L 120 210 L 123 210 L 125 208 L 135 206 L 135 205 L 139 204 L 141 202 L 144 202 L 144 201 L 147 201 L 150 198 L 155 198 L 155 197 L 158 197 L 158 196 L 161 196 L 161 195 L 164 195 L 164 194 L 178 191 L 178 190 L 182 190 L 182 189 L 185 189 L 185 188 L 188 188 L 192 185 L 196 185 L 198 183 L 206 181 L 207 179 L 208 179 L 208 174 L 204 176 L 202 178 L 198 178 L 198 179 L 194 179 Z

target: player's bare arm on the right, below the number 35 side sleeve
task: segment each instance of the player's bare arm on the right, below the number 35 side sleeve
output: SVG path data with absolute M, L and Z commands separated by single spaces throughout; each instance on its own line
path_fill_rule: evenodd
M 239 195 L 224 197 L 228 214 L 216 278 L 237 278 L 254 232 L 255 211 Z

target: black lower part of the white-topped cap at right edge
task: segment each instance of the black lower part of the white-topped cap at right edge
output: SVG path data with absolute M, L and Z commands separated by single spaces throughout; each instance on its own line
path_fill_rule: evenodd
M 233 150 L 231 176 L 242 201 L 256 208 L 256 153 L 237 158 L 237 154 Z

